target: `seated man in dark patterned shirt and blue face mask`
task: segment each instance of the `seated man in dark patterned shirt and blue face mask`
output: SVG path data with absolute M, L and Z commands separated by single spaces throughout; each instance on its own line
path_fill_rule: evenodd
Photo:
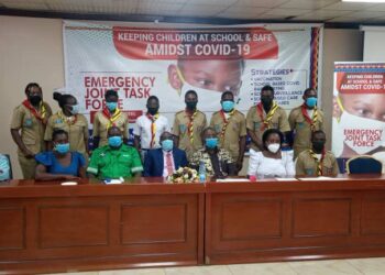
M 204 148 L 191 156 L 190 167 L 199 170 L 200 162 L 205 163 L 207 177 L 224 178 L 237 176 L 237 166 L 229 151 L 218 147 L 217 132 L 213 128 L 206 128 L 201 134 Z

